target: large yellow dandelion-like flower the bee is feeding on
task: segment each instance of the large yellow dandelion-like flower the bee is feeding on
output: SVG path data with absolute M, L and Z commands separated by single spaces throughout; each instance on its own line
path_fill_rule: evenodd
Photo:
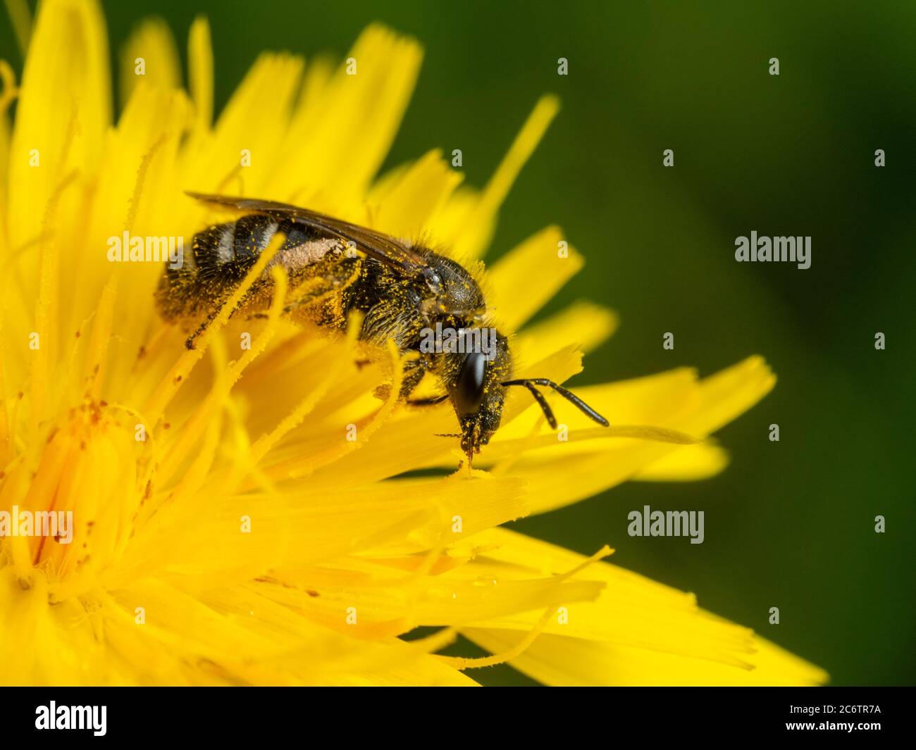
M 397 385 L 396 355 L 356 366 L 353 336 L 292 326 L 282 294 L 245 323 L 250 347 L 227 307 L 188 351 L 153 304 L 161 265 L 109 260 L 113 236 L 187 242 L 212 221 L 184 190 L 421 231 L 479 258 L 554 99 L 484 190 L 437 151 L 376 179 L 420 68 L 409 38 L 367 28 L 355 75 L 266 53 L 213 122 L 206 21 L 191 27 L 188 92 L 168 29 L 149 22 L 125 44 L 114 121 L 96 3 L 44 0 L 16 28 L 21 85 L 0 66 L 0 682 L 469 685 L 501 661 L 546 684 L 823 682 L 692 594 L 601 561 L 608 549 L 585 559 L 500 527 L 627 479 L 718 472 L 723 452 L 685 436 L 769 391 L 759 357 L 583 388 L 613 416 L 606 431 L 554 399 L 566 441 L 512 394 L 473 471 L 398 478 L 453 471 L 456 450 L 432 437 L 454 431 L 450 409 L 374 395 Z M 518 332 L 518 376 L 564 381 L 616 325 L 585 304 L 526 325 L 582 266 L 573 249 L 557 258 L 561 239 L 543 229 L 486 276 Z M 16 526 L 58 513 L 71 527 L 56 536 Z M 423 625 L 438 629 L 401 637 Z M 456 634 L 493 657 L 437 655 Z

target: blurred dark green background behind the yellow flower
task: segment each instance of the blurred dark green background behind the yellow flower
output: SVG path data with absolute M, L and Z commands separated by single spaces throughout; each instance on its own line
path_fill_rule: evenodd
M 426 56 L 387 166 L 462 148 L 475 185 L 540 94 L 557 92 L 562 112 L 490 257 L 545 223 L 586 256 L 545 312 L 585 297 L 622 327 L 573 382 L 707 375 L 750 353 L 780 379 L 718 433 L 733 456 L 720 476 L 626 484 L 515 526 L 586 554 L 610 543 L 616 564 L 695 592 L 834 685 L 912 684 L 916 5 L 842 5 L 104 2 L 113 54 L 155 14 L 183 56 L 191 20 L 209 16 L 218 106 L 261 49 L 343 56 L 374 20 L 413 35 Z M 7 20 L 0 49 L 21 71 Z M 737 264 L 735 238 L 751 230 L 811 235 L 811 268 Z M 627 537 L 627 512 L 646 504 L 705 510 L 704 543 Z M 474 677 L 530 683 L 507 667 Z

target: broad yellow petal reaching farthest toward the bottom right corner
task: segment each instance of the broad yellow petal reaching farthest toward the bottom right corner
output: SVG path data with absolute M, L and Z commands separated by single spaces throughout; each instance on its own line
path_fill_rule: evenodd
M 507 529 L 479 537 L 487 555 L 531 571 L 556 571 L 584 558 Z M 691 594 L 677 592 L 604 562 L 577 576 L 605 583 L 594 602 L 570 603 L 515 668 L 551 685 L 817 684 L 822 669 L 792 657 L 747 628 L 703 612 Z M 462 628 L 498 653 L 518 640 L 539 613 L 514 614 Z

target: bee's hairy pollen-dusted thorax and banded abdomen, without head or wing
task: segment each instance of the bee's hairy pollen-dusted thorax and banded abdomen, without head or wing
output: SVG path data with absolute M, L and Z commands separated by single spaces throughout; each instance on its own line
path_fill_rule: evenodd
M 191 258 L 180 268 L 167 268 L 160 281 L 162 316 L 190 321 L 217 309 L 278 233 L 285 235 L 283 245 L 234 314 L 269 308 L 270 270 L 277 265 L 289 277 L 288 315 L 344 331 L 349 313 L 358 310 L 364 316 L 360 339 L 384 344 L 390 338 L 402 353 L 417 349 L 424 328 L 436 322 L 469 327 L 484 311 L 484 297 L 471 275 L 431 250 L 417 249 L 435 269 L 432 283 L 426 276 L 405 277 L 375 258 L 356 255 L 339 237 L 321 230 L 248 214 L 194 235 Z

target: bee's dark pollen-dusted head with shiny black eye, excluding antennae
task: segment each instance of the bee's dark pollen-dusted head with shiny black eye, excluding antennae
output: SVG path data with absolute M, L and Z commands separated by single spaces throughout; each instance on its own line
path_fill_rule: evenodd
M 445 378 L 461 425 L 461 448 L 469 462 L 499 427 L 506 397 L 500 384 L 512 369 L 506 337 L 494 329 L 485 331 L 491 333 L 487 345 L 482 350 L 474 347 L 468 353 L 449 357 L 451 376 Z

